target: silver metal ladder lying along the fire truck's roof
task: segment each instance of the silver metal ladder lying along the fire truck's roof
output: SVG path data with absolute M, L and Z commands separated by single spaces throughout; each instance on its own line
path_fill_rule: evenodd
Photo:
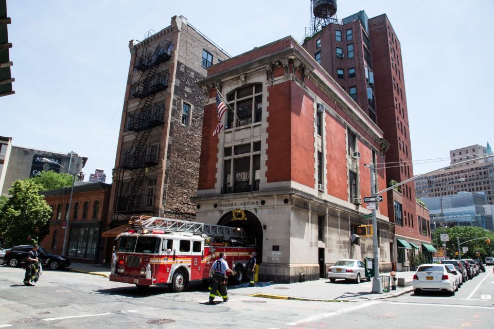
M 141 218 L 143 219 L 132 222 L 138 229 L 206 234 L 210 238 L 219 237 L 225 240 L 247 238 L 245 231 L 237 227 L 181 221 L 163 217 L 143 216 Z

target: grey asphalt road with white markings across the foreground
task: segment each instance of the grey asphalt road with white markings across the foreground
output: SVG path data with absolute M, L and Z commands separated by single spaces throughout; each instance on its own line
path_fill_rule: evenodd
M 414 294 L 363 302 L 313 302 L 235 295 L 206 304 L 202 285 L 181 294 L 138 291 L 107 278 L 44 271 L 34 287 L 22 269 L 0 266 L 0 328 L 487 328 L 494 323 L 494 275 L 466 282 L 455 296 Z M 217 298 L 218 299 L 218 298 Z

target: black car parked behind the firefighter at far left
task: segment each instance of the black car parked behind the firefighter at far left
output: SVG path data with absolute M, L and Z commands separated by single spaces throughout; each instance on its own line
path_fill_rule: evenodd
M 5 253 L 4 264 L 10 267 L 21 267 L 21 265 L 26 263 L 26 257 L 31 250 L 32 246 L 12 247 Z M 38 258 L 42 265 L 47 265 L 50 269 L 62 269 L 72 263 L 69 258 L 51 254 L 41 247 L 38 249 Z

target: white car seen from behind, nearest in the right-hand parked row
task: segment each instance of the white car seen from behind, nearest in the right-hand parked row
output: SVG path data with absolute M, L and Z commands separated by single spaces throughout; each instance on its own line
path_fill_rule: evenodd
M 457 271 L 449 269 L 447 264 L 422 264 L 413 276 L 413 290 L 415 295 L 422 291 L 446 291 L 451 296 L 457 290 Z

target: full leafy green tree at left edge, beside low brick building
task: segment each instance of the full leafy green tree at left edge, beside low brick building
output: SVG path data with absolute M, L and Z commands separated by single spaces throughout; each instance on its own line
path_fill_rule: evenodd
M 0 235 L 5 245 L 40 242 L 50 232 L 51 208 L 40 195 L 40 185 L 32 180 L 16 180 L 9 189 L 11 198 L 0 210 Z

